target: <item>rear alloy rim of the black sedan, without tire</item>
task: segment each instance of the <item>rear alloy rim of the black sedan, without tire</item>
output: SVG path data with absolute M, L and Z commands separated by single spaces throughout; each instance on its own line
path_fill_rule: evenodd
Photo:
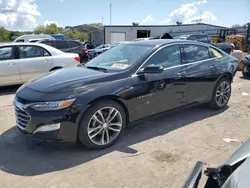
M 216 91 L 215 100 L 218 106 L 224 106 L 227 104 L 230 97 L 230 84 L 226 81 L 221 82 Z

